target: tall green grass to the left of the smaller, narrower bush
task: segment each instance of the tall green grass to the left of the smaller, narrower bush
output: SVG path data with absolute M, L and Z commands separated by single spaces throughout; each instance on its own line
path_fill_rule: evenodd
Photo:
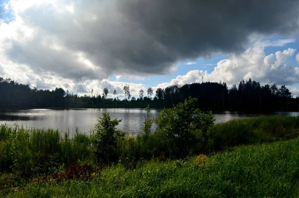
M 58 130 L 0 126 L 0 172 L 38 175 L 56 171 L 79 160 L 93 161 L 90 137 L 74 137 Z

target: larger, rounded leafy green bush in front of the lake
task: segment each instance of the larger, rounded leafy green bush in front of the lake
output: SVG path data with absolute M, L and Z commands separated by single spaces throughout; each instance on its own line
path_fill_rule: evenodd
M 215 119 L 211 112 L 203 114 L 195 108 L 197 102 L 189 97 L 173 108 L 163 109 L 155 119 L 156 134 L 173 155 L 189 155 L 192 149 L 203 149 L 211 139 L 209 128 Z

